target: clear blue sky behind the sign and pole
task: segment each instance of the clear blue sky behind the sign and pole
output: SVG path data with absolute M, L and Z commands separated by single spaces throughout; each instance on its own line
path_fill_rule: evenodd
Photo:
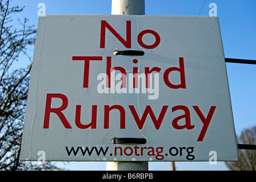
M 209 16 L 210 3 L 216 3 L 221 26 L 225 57 L 256 60 L 256 1 L 209 0 L 145 0 L 146 15 Z M 11 5 L 25 6 L 17 18 L 28 18 L 37 27 L 38 3 L 45 3 L 46 14 L 111 14 L 111 0 L 13 0 Z M 28 52 L 33 55 L 33 47 Z M 26 62 L 23 62 L 26 64 Z M 226 63 L 234 125 L 237 135 L 243 129 L 256 125 L 256 65 Z M 177 170 L 227 170 L 223 162 L 177 162 Z M 70 162 L 75 170 L 105 170 L 105 162 Z M 170 170 L 170 162 L 150 162 L 150 170 Z

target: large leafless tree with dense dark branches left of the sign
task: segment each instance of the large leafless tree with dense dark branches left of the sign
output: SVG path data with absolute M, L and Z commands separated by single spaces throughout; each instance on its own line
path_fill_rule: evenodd
M 31 64 L 19 69 L 13 65 L 22 61 L 21 53 L 27 55 L 27 46 L 34 45 L 36 30 L 27 25 L 26 18 L 18 20 L 22 28 L 14 26 L 12 15 L 21 13 L 24 7 L 10 7 L 10 0 L 0 0 L 0 9 L 0 169 L 58 169 L 50 162 L 39 165 L 19 161 Z

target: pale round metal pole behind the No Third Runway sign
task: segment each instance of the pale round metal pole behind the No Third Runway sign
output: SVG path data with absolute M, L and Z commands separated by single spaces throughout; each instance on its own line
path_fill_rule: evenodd
M 112 0 L 112 15 L 145 15 L 145 0 Z M 107 171 L 147 171 L 147 162 L 107 162 Z

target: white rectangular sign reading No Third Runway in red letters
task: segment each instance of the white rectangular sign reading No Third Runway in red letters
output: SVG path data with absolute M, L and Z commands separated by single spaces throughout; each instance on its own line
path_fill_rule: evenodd
M 21 160 L 238 160 L 217 17 L 39 17 Z

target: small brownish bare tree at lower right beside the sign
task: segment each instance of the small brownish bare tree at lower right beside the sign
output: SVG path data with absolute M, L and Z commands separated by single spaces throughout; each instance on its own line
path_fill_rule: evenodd
M 256 144 L 256 126 L 243 130 L 237 140 L 239 144 Z M 239 161 L 225 162 L 225 164 L 233 171 L 255 171 L 256 151 L 239 150 Z

